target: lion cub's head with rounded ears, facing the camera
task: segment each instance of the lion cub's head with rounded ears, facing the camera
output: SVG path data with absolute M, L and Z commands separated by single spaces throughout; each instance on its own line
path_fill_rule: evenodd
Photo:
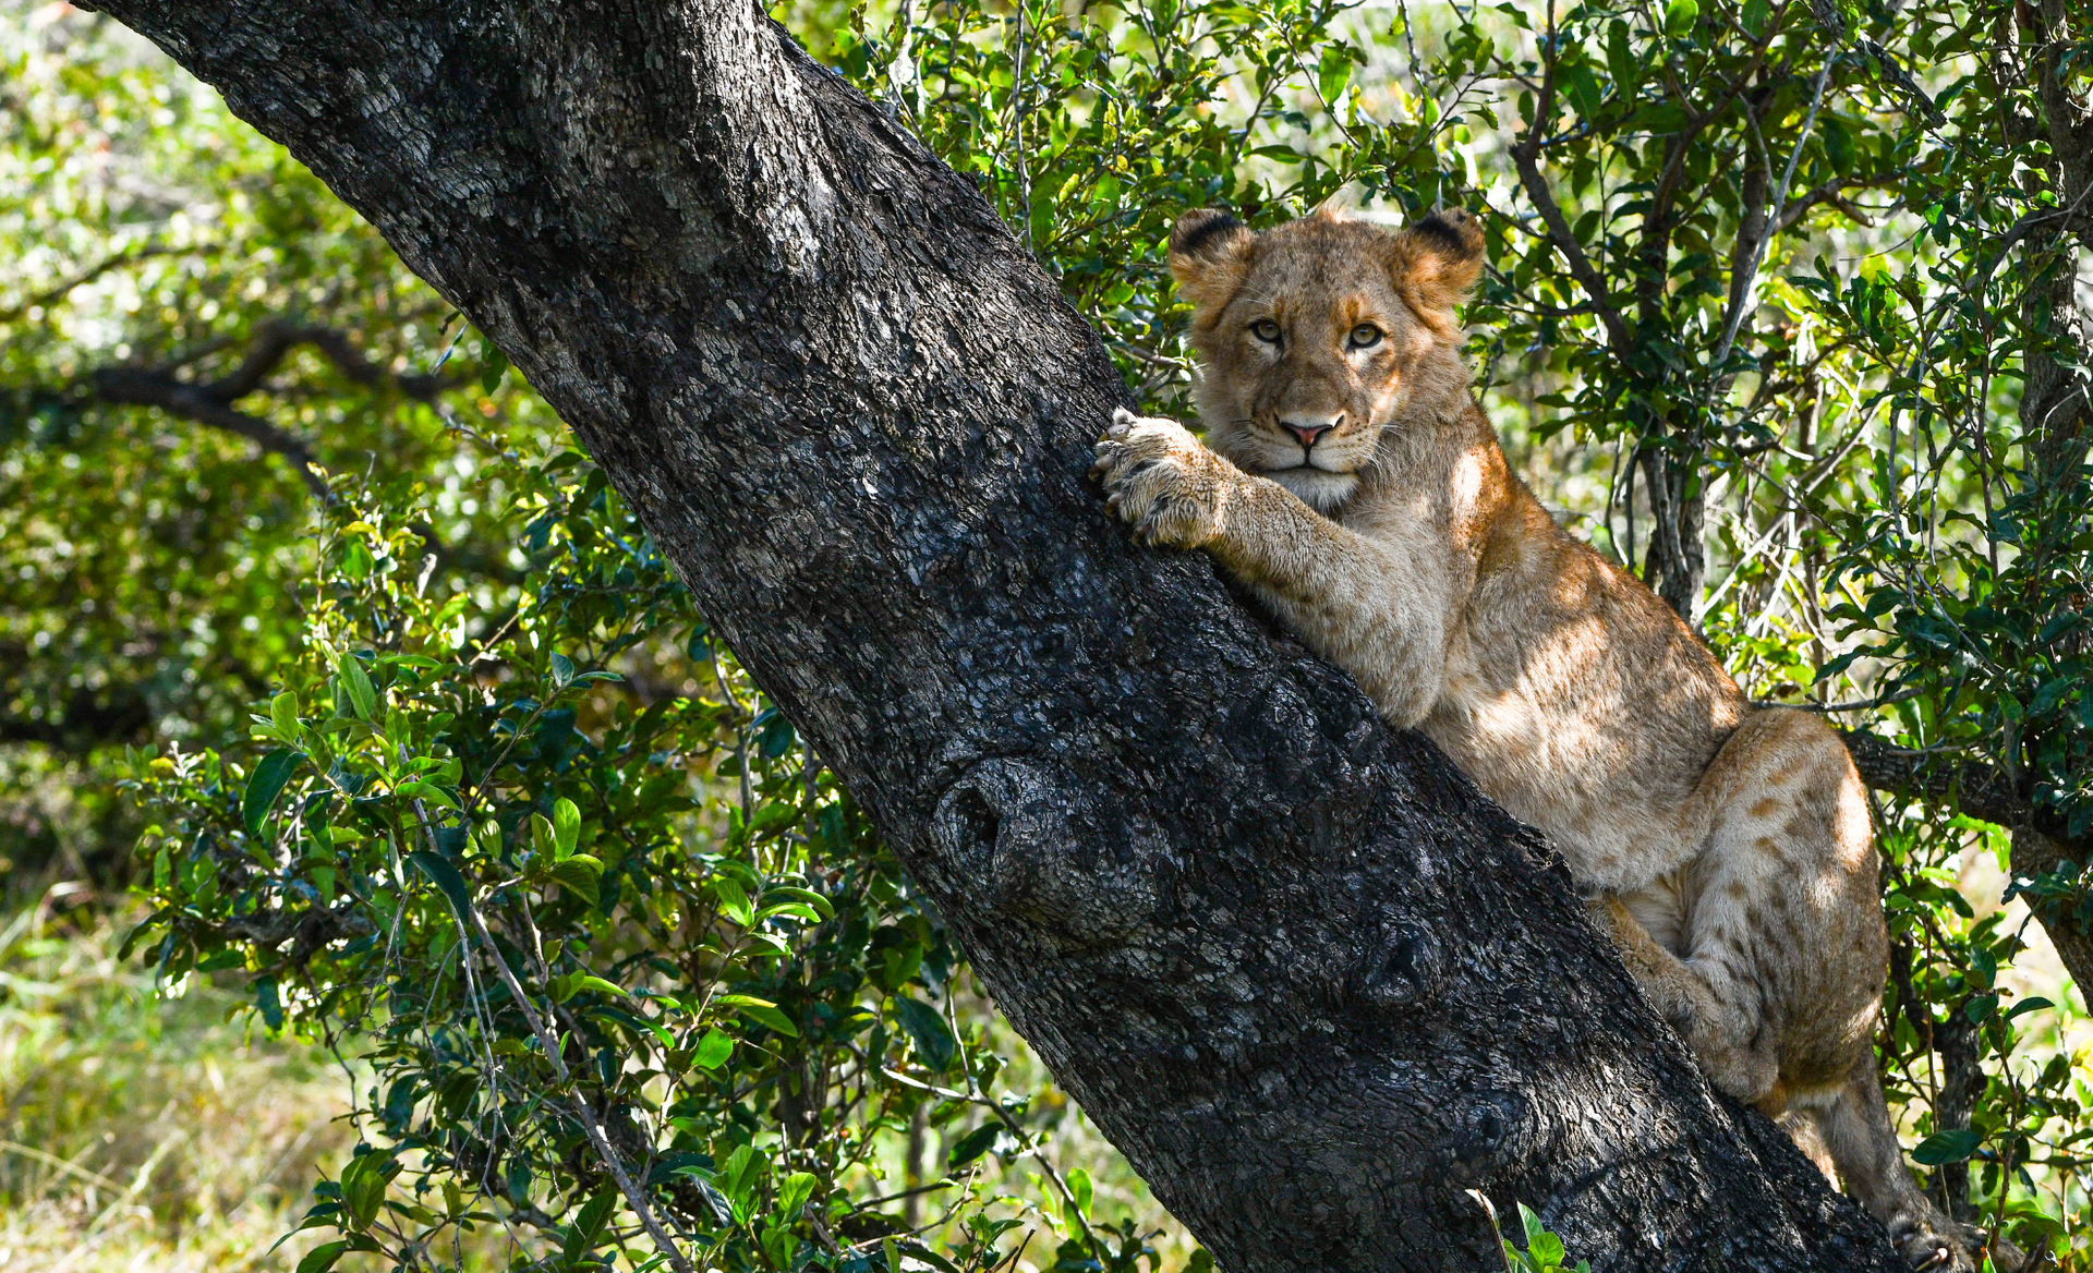
M 1252 232 L 1206 207 L 1170 230 L 1170 272 L 1193 304 L 1208 444 L 1319 509 L 1352 494 L 1409 404 L 1465 404 L 1455 306 L 1482 274 L 1465 211 L 1400 232 L 1327 211 Z

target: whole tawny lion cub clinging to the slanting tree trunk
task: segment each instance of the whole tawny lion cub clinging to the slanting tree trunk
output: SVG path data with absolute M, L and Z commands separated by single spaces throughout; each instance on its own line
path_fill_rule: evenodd
M 1097 444 L 1111 511 L 1212 553 L 1547 831 L 1714 1085 L 1829 1149 L 1915 1265 L 1972 1269 L 1980 1235 L 1905 1172 L 1875 1074 L 1888 942 L 1852 760 L 1823 720 L 1754 708 L 1505 467 L 1455 318 L 1476 220 L 1252 232 L 1191 211 L 1170 272 L 1206 442 L 1120 412 Z

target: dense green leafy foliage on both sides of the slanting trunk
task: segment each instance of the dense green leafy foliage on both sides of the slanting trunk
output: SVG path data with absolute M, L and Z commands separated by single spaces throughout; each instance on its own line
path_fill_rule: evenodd
M 2085 833 L 2087 412 L 2022 408 L 2087 362 L 2051 140 L 2087 31 L 1993 0 L 779 13 L 982 182 L 1155 408 L 1185 207 L 1476 209 L 1486 406 L 1543 498 L 1752 693 L 1863 701 Z M 6 46 L 0 827 L 27 871 L 142 825 L 134 951 L 356 1057 L 308 1265 L 1160 1265 L 1036 1152 L 1061 1097 L 527 385 L 207 92 L 50 17 Z M 2005 831 L 1894 796 L 1880 825 L 1917 1158 L 2089 1267 L 2085 1015 L 2028 913 L 1959 888 Z M 2013 888 L 2093 930 L 2070 856 Z

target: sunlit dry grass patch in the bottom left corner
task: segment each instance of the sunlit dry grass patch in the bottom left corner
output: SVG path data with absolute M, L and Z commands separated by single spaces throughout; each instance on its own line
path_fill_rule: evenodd
M 157 999 L 115 917 L 0 923 L 0 1269 L 291 1269 L 270 1254 L 354 1139 L 324 1053 L 245 1038 L 230 992 Z

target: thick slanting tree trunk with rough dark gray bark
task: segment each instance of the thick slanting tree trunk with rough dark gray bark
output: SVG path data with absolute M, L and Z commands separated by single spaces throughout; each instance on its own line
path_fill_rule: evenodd
M 1892 1269 L 1430 743 L 1130 546 L 1124 387 L 749 0 L 105 0 L 494 335 L 1231 1273 Z

